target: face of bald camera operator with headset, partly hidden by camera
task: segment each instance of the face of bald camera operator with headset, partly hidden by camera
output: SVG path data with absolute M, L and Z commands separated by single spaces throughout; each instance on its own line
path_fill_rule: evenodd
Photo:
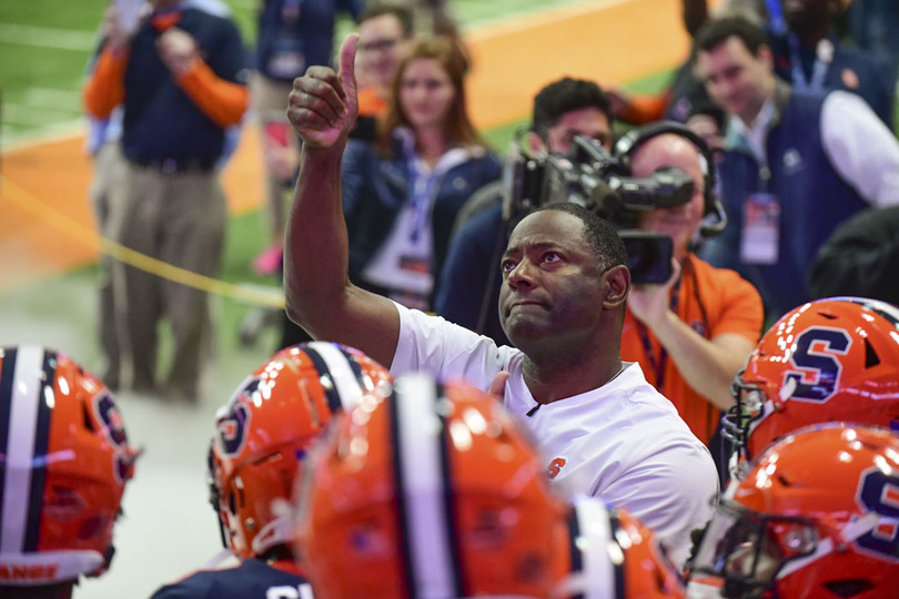
M 634 176 L 650 176 L 664 166 L 676 166 L 693 180 L 693 196 L 686 204 L 655 209 L 638 215 L 639 227 L 663 233 L 674 241 L 675 256 L 683 258 L 690 238 L 699 229 L 705 210 L 705 179 L 699 151 L 680 135 L 663 134 L 649 139 L 630 156 Z M 710 165 L 709 165 L 710 166 Z

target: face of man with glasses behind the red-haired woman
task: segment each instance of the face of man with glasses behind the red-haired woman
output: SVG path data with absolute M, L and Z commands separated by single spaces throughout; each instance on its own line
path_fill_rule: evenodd
M 410 39 L 403 34 L 400 20 L 382 14 L 358 26 L 356 69 L 377 87 L 388 87 Z

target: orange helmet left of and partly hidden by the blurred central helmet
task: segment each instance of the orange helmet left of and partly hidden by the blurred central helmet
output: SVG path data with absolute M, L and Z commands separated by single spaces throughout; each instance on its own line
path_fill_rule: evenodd
M 357 349 L 312 342 L 277 352 L 238 387 L 215 416 L 209 459 L 225 547 L 250 558 L 291 546 L 289 501 L 306 451 L 334 413 L 390 379 Z

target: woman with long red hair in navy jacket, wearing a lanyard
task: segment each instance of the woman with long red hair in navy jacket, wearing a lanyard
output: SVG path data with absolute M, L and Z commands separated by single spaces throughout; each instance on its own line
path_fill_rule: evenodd
M 452 39 L 416 41 L 376 141 L 351 140 L 343 159 L 350 277 L 410 307 L 431 308 L 458 210 L 501 176 L 468 118 L 467 69 Z

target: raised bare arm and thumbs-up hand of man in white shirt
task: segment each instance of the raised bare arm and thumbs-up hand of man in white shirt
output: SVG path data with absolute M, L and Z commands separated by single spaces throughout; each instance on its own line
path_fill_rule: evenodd
M 358 102 L 353 63 L 358 37 L 341 47 L 341 72 L 310 67 L 293 82 L 287 118 L 303 140 L 284 242 L 287 316 L 316 339 L 356 347 L 390 367 L 400 336 L 393 302 L 347 276 L 341 160 Z

